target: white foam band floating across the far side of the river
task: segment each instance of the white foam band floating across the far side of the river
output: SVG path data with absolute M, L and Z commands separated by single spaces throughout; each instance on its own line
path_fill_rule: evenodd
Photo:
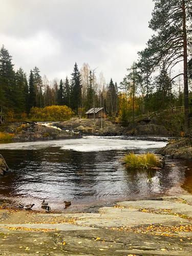
M 0 144 L 0 150 L 38 150 L 46 147 L 60 147 L 62 150 L 79 152 L 109 151 L 109 150 L 149 150 L 163 147 L 167 142 L 147 140 L 125 140 L 120 138 L 105 138 L 97 136 L 80 139 L 47 140 L 34 142 L 16 142 Z

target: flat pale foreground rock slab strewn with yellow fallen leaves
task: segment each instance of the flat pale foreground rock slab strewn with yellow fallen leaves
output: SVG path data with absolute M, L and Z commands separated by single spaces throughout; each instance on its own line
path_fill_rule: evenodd
M 191 255 L 192 196 L 126 201 L 97 213 L 0 210 L 3 255 Z

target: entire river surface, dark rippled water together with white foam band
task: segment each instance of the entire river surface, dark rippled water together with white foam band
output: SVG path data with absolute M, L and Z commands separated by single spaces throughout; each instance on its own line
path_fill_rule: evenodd
M 156 139 L 157 140 L 157 139 Z M 91 210 L 118 200 L 192 193 L 190 162 L 167 160 L 163 170 L 126 170 L 120 159 L 129 152 L 153 152 L 164 138 L 95 137 L 0 144 L 10 172 L 0 178 L 0 199 L 11 204 L 40 203 L 52 210 Z

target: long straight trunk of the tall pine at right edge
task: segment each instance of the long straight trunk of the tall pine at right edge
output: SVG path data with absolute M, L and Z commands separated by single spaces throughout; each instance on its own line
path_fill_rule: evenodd
M 185 0 L 182 0 L 183 10 L 183 62 L 184 62 L 184 118 L 185 118 L 185 133 L 189 129 L 189 105 L 188 105 L 188 72 L 187 72 L 187 33 L 186 33 L 186 13 Z

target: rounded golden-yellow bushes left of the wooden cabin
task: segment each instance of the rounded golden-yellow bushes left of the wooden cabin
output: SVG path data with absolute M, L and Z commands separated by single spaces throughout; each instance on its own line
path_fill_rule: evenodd
M 73 111 L 66 105 L 52 105 L 45 108 L 31 108 L 29 118 L 32 121 L 63 121 L 73 116 Z

